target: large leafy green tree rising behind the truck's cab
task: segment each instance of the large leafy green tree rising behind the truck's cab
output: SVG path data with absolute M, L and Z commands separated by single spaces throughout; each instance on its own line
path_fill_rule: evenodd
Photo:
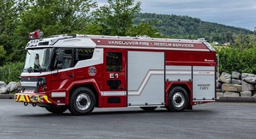
M 24 49 L 29 41 L 29 32 L 35 30 L 43 31 L 44 37 L 82 33 L 90 10 L 96 6 L 93 0 L 30 0 L 26 10 L 20 13 L 12 46 L 15 50 Z M 8 60 L 19 61 L 24 59 L 25 54 L 12 51 Z

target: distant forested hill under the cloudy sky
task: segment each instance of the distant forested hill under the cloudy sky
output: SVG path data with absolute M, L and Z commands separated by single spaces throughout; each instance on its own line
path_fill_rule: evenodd
M 157 21 L 153 25 L 158 31 L 169 38 L 197 39 L 205 38 L 210 42 L 226 43 L 233 41 L 233 35 L 253 34 L 253 31 L 234 26 L 205 22 L 189 16 L 166 15 L 156 13 L 138 13 L 134 24 Z

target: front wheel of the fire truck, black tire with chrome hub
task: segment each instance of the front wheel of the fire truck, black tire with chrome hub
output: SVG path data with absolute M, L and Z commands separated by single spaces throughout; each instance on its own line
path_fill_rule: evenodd
M 95 107 L 95 95 L 89 88 L 81 87 L 70 96 L 68 110 L 74 115 L 90 114 Z

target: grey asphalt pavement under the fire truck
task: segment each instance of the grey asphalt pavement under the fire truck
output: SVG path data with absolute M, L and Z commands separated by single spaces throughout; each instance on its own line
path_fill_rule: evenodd
M 256 103 L 201 104 L 180 113 L 157 108 L 95 108 L 91 115 L 51 114 L 0 100 L 0 139 L 256 139 Z

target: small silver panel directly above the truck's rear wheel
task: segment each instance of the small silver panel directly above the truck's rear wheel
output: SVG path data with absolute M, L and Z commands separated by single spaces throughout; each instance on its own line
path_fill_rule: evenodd
M 191 66 L 165 66 L 165 79 L 168 81 L 191 81 Z

